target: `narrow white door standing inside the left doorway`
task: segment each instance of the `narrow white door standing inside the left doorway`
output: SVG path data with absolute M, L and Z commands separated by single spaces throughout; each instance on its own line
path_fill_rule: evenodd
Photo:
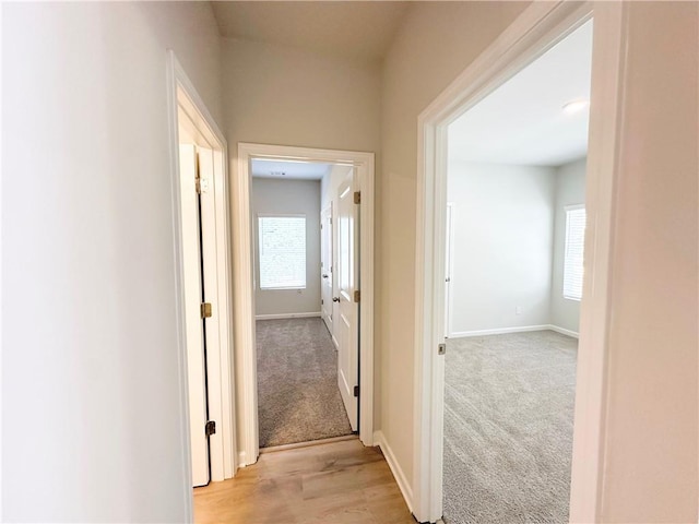
M 204 330 L 201 318 L 202 276 L 197 194 L 197 147 L 180 145 L 180 206 L 182 228 L 182 272 L 185 274 L 185 326 L 187 331 L 187 379 L 189 383 L 189 429 L 192 450 L 192 485 L 209 484 L 209 439 Z

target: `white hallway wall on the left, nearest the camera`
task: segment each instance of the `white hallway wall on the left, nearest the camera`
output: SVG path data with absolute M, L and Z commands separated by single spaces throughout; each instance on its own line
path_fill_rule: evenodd
M 2 5 L 2 519 L 186 522 L 166 49 L 208 3 Z

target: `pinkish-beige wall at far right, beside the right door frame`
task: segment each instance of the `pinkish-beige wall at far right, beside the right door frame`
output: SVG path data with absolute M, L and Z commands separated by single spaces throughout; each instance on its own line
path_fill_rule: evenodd
M 625 5 L 602 520 L 697 522 L 699 3 Z

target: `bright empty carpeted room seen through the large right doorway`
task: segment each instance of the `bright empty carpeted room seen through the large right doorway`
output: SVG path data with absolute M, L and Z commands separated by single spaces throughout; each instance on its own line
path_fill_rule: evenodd
M 567 522 L 592 21 L 449 128 L 445 522 Z

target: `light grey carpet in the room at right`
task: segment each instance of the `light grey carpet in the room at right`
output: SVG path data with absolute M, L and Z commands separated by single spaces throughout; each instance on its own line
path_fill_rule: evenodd
M 553 331 L 450 340 L 445 522 L 568 522 L 578 341 Z

